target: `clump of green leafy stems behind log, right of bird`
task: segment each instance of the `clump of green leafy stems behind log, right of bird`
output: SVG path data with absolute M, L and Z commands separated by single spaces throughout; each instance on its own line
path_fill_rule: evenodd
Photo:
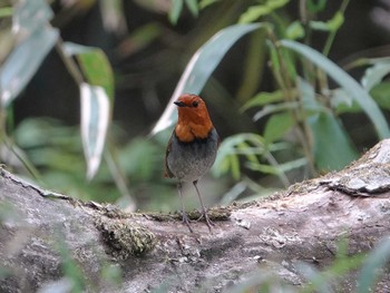
M 251 7 L 242 14 L 240 22 L 270 16 L 286 2 L 265 1 Z M 321 12 L 325 8 L 325 1 L 308 1 L 306 4 L 306 14 Z M 309 170 L 310 176 L 319 172 L 341 169 L 359 156 L 340 116 L 345 113 L 364 113 L 378 138 L 390 136 L 389 125 L 380 109 L 389 106 L 386 99 L 388 87 L 382 82 L 390 72 L 388 59 L 371 62 L 372 66 L 367 69 L 360 85 L 326 57 L 335 33 L 344 22 L 347 4 L 348 1 L 343 1 L 330 20 L 310 20 L 309 26 L 294 20 L 285 23 L 283 30 L 280 27 L 282 22 L 277 22 L 277 29 L 274 29 L 273 23 L 263 22 L 269 37 L 270 68 L 277 88 L 271 92 L 256 94 L 242 107 L 243 111 L 260 108 L 253 119 L 262 120 L 265 125 L 260 135 L 256 135 L 262 152 L 255 154 L 256 160 L 252 153 L 252 157 L 247 156 L 245 148 L 252 149 L 246 140 L 248 134 L 245 137 L 234 136 L 233 140 L 225 139 L 217 160 L 220 174 L 231 172 L 234 178 L 238 178 L 243 165 L 251 170 L 277 175 L 286 185 L 287 173 L 294 168 L 304 167 L 303 173 Z M 293 41 L 315 31 L 329 33 L 322 53 L 308 45 Z M 290 40 L 280 39 L 285 37 Z M 300 65 L 302 69 L 298 70 Z M 340 87 L 330 88 L 326 75 Z M 279 141 L 289 141 L 285 146 L 290 149 L 286 147 L 284 152 L 274 154 L 271 164 L 266 157 L 270 154 L 263 150 L 270 150 Z M 260 164 L 261 162 L 265 164 Z

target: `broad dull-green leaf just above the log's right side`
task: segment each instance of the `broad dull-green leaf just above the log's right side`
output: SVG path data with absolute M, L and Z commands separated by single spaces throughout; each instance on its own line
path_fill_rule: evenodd
M 321 170 L 338 170 L 358 158 L 348 134 L 334 116 L 321 113 L 309 117 L 315 163 Z

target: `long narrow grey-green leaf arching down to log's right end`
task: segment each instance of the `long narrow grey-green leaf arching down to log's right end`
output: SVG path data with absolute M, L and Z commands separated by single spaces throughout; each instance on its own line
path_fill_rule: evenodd
M 365 111 L 365 114 L 371 119 L 374 125 L 378 136 L 380 138 L 386 138 L 390 136 L 389 126 L 372 97 L 351 76 L 343 71 L 339 66 L 332 62 L 330 59 L 321 55 L 320 52 L 313 50 L 312 48 L 292 41 L 282 40 L 281 45 L 283 47 L 290 48 L 324 70 L 329 76 L 333 78 L 342 88 L 351 95 L 351 97 L 360 105 L 360 107 Z

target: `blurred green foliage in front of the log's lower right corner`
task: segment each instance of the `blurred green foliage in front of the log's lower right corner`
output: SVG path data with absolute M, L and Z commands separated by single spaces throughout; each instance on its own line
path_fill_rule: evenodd
M 345 292 L 344 286 L 348 287 L 348 292 L 376 292 L 378 277 L 383 272 L 386 263 L 390 258 L 389 245 L 390 241 L 386 237 L 369 254 L 358 253 L 351 255 L 348 252 L 348 240 L 344 238 L 337 246 L 337 254 L 333 262 L 321 270 L 313 264 L 303 262 L 294 263 L 298 274 L 306 281 L 302 287 L 285 284 L 279 276 L 270 273 L 272 270 L 265 264 L 253 272 L 252 276 L 247 277 L 246 281 L 236 284 L 228 292 L 330 293 Z M 353 277 L 355 272 L 360 272 L 357 279 Z M 352 284 L 345 284 L 345 279 L 351 281 Z M 353 286 L 355 282 L 357 287 Z

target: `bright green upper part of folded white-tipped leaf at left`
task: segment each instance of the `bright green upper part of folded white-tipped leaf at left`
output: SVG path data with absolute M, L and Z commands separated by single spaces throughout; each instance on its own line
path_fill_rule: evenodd
M 103 87 L 113 104 L 114 74 L 105 52 L 99 48 L 72 42 L 65 42 L 62 48 L 67 56 L 76 56 L 78 65 L 88 84 Z

